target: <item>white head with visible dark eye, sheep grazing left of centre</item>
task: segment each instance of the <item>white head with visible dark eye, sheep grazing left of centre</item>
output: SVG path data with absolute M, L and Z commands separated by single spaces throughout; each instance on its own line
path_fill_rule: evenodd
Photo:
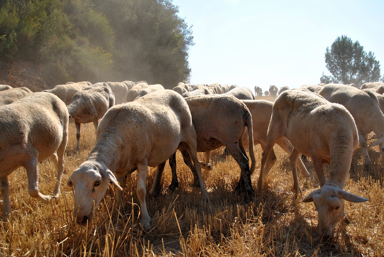
M 122 190 L 113 172 L 103 162 L 85 161 L 67 181 L 73 187 L 74 216 L 79 225 L 92 221 L 93 211 L 98 207 L 108 189 L 109 181 Z

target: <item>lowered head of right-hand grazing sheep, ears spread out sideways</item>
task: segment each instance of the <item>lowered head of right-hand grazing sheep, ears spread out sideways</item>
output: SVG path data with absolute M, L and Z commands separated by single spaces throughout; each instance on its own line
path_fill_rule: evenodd
M 319 235 L 324 239 L 332 237 L 336 224 L 344 216 L 344 200 L 365 202 L 367 198 L 355 196 L 337 186 L 324 184 L 307 196 L 303 202 L 313 202 L 318 211 Z

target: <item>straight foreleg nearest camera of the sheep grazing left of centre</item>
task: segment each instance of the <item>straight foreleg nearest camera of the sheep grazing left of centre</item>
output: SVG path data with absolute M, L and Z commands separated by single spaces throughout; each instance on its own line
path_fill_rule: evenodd
M 148 173 L 148 166 L 147 166 L 147 160 L 145 160 L 143 163 L 140 163 L 137 165 L 136 194 L 137 194 L 137 197 L 139 198 L 141 214 L 142 214 L 141 224 L 144 226 L 144 228 L 150 229 L 151 224 L 149 223 L 149 221 L 151 221 L 151 217 L 149 217 L 148 210 L 147 210 L 147 203 L 145 200 L 147 173 Z

